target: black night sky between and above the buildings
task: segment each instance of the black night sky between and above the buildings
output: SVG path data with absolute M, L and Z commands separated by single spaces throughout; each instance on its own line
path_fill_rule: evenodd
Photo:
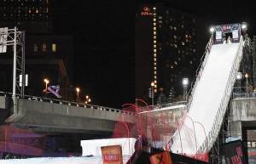
M 55 0 L 55 33 L 73 36 L 73 85 L 90 94 L 93 104 L 121 108 L 134 102 L 135 15 L 140 3 L 154 2 Z M 246 21 L 249 34 L 256 33 L 256 12 L 249 3 L 161 2 L 206 19 L 206 26 Z

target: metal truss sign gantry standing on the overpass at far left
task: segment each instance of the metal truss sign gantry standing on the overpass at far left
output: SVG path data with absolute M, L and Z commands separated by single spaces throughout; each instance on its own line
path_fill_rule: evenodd
M 13 93 L 12 98 L 15 101 L 17 95 L 24 98 L 25 94 L 25 32 L 18 31 L 17 27 L 9 29 L 7 33 L 0 33 L 0 46 L 12 46 L 14 52 L 13 65 Z M 20 75 L 22 78 L 20 84 Z

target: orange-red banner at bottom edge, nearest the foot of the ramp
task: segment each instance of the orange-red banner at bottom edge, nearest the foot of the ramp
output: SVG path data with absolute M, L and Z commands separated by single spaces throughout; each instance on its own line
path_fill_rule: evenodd
M 150 156 L 151 164 L 172 164 L 170 152 L 164 151 L 162 153 Z

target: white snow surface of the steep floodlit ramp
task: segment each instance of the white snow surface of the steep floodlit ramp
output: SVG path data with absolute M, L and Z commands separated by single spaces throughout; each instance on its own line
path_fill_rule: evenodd
M 201 78 L 195 88 L 188 115 L 184 118 L 183 126 L 180 128 L 180 135 L 178 132 L 174 134 L 172 152 L 195 155 L 196 150 L 203 144 L 206 134 L 211 131 L 214 124 L 238 48 L 239 43 L 212 46 L 205 68 L 201 72 Z M 194 126 L 192 122 L 194 122 Z M 197 122 L 203 125 L 206 134 L 203 127 Z

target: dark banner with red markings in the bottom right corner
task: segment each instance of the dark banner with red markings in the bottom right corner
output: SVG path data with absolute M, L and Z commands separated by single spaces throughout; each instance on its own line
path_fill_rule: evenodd
M 224 157 L 227 164 L 247 164 L 241 140 L 224 144 Z

